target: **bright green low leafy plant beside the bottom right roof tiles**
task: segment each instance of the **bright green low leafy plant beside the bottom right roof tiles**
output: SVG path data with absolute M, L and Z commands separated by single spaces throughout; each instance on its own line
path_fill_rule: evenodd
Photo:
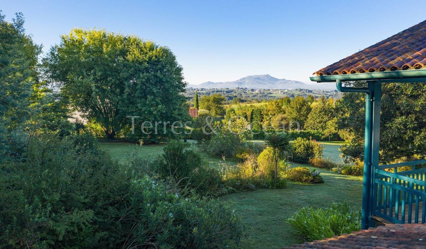
M 348 203 L 333 203 L 327 209 L 304 207 L 287 220 L 305 240 L 321 240 L 361 229 L 361 210 Z

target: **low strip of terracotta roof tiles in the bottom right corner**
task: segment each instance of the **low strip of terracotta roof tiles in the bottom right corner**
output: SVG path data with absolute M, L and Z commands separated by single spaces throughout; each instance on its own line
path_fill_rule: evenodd
M 387 224 L 351 234 L 334 236 L 324 240 L 314 240 L 282 249 L 361 249 L 361 248 L 404 248 L 426 249 L 425 224 Z

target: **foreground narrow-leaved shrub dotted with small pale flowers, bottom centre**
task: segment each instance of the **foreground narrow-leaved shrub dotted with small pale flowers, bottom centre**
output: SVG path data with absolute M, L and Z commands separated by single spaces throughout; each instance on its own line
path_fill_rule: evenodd
M 150 177 L 134 180 L 121 217 L 123 247 L 225 248 L 241 246 L 241 216 L 219 200 L 182 197 Z

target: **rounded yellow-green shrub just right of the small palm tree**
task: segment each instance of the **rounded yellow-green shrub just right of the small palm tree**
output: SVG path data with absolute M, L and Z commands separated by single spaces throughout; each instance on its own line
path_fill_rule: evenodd
M 293 141 L 293 160 L 296 163 L 308 163 L 310 158 L 322 157 L 324 146 L 315 140 L 298 137 Z

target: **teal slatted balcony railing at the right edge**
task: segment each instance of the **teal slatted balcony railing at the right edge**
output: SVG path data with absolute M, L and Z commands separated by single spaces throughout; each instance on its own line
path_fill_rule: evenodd
M 372 213 L 393 223 L 426 223 L 426 160 L 374 168 Z

